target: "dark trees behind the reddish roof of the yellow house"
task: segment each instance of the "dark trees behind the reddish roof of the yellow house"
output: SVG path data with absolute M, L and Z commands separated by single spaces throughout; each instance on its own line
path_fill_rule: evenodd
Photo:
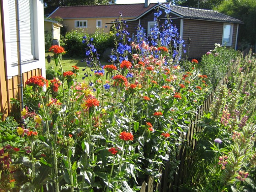
M 51 14 L 59 6 L 108 5 L 115 3 L 116 0 L 44 0 L 44 15 Z

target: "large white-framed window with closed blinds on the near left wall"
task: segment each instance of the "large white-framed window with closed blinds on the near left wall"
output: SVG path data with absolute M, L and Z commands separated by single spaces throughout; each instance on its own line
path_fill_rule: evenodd
M 18 46 L 17 46 L 17 27 L 16 21 L 20 26 L 20 54 L 22 72 L 43 67 L 40 60 L 44 51 L 42 37 L 43 4 L 38 0 L 19 0 L 19 18 L 16 18 L 16 0 L 4 0 L 4 45 L 5 45 L 5 64 L 7 67 L 7 78 L 18 75 Z M 43 48 L 42 48 L 43 47 Z M 42 58 L 43 59 L 43 58 Z

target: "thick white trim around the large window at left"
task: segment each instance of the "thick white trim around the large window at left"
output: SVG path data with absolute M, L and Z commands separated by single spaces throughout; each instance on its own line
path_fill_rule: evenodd
M 34 60 L 22 63 L 21 73 L 26 73 L 34 69 L 42 69 L 42 75 L 45 77 L 45 50 L 44 50 L 44 16 L 43 16 L 43 0 L 33 1 L 33 35 L 34 35 Z M 3 2 L 4 19 L 9 21 L 8 2 Z M 19 74 L 18 65 L 11 64 L 11 46 L 8 44 L 10 39 L 10 29 L 5 25 L 5 64 L 6 64 L 6 78 L 11 79 L 13 76 Z

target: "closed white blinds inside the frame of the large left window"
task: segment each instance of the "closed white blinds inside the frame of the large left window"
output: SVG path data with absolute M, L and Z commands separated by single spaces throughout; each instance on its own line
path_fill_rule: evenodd
M 5 44 L 10 51 L 7 64 L 17 64 L 17 27 L 16 27 L 16 0 L 7 0 L 8 9 L 4 10 L 5 16 Z M 21 41 L 21 62 L 35 59 L 33 37 L 33 7 L 32 0 L 19 0 L 19 21 Z M 8 45 L 9 44 L 9 45 Z

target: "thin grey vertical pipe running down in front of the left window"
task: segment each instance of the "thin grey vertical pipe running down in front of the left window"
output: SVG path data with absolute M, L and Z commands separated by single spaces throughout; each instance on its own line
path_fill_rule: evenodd
M 18 52 L 18 90 L 20 99 L 20 111 L 24 108 L 23 104 L 23 81 L 22 81 L 22 68 L 21 68 L 21 38 L 20 38 L 20 15 L 19 15 L 19 0 L 16 0 L 16 31 L 17 31 L 17 52 Z M 23 118 L 21 117 L 23 122 Z

